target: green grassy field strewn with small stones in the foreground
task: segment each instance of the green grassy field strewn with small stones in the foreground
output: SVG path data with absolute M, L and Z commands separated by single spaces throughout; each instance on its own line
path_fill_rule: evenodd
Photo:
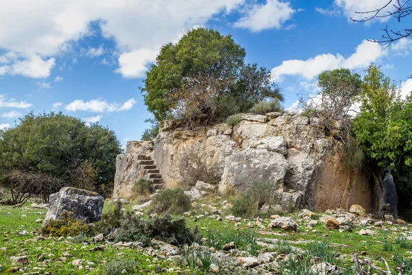
M 209 231 L 226 236 L 235 236 L 236 232 L 255 232 L 258 240 L 259 238 L 282 240 L 302 250 L 308 249 L 308 245 L 314 241 L 327 241 L 338 252 L 335 264 L 349 271 L 353 266 L 350 256 L 352 252 L 360 254 L 361 259 L 371 259 L 373 265 L 382 269 L 385 268 L 385 263 L 380 261 L 381 258 L 385 258 L 394 269 L 396 261 L 402 257 L 409 259 L 412 255 L 412 242 L 409 243 L 405 239 L 403 242 L 399 241 L 400 236 L 405 238 L 412 236 L 409 225 L 385 224 L 382 228 L 356 225 L 352 232 L 339 232 L 339 230 L 328 230 L 318 222 L 309 229 L 306 228 L 307 223 L 298 217 L 299 212 L 295 212 L 288 216 L 299 224 L 297 232 L 268 229 L 267 225 L 271 219 L 263 219 L 262 224 L 266 229 L 262 230 L 253 221 L 228 221 L 225 215 L 222 215 L 222 221 L 208 216 L 196 217 L 198 214 L 204 214 L 209 206 L 219 208 L 220 200 L 213 195 L 203 199 L 192 210 L 191 217 L 187 217 L 187 225 L 190 228 L 197 227 L 204 238 L 208 236 Z M 106 201 L 104 211 L 110 207 L 111 202 Z M 130 205 L 126 208 L 130 209 Z M 134 266 L 132 274 L 203 274 L 198 268 L 188 267 L 183 259 L 168 261 L 165 256 L 153 256 L 149 253 L 150 250 L 147 252 L 107 244 L 104 245 L 104 250 L 94 251 L 93 249 L 100 244 L 84 237 L 40 236 L 38 229 L 41 223 L 36 223 L 36 220 L 43 221 L 45 212 L 46 210 L 43 209 L 32 209 L 30 203 L 20 208 L 0 206 L 0 265 L 3 267 L 3 273 L 11 272 L 12 267 L 16 267 L 12 265 L 13 256 L 27 255 L 28 263 L 18 265 L 20 268 L 16 269 L 17 274 L 110 274 L 106 267 L 119 262 L 132 264 Z M 321 217 L 321 213 L 317 213 L 317 217 Z M 361 229 L 366 228 L 374 230 L 374 236 L 359 234 Z M 257 249 L 256 255 L 264 252 L 277 253 L 277 248 L 258 247 Z M 225 274 L 224 270 L 221 270 L 220 274 Z M 245 270 L 244 274 L 253 274 L 253 272 L 248 273 Z

